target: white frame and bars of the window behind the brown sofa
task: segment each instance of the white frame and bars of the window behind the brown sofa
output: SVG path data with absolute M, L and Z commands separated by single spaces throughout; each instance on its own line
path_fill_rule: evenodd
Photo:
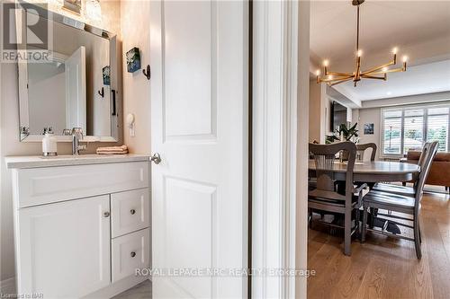
M 446 101 L 440 104 L 421 104 L 421 105 L 403 105 L 403 106 L 395 106 L 395 107 L 387 107 L 382 108 L 380 113 L 380 156 L 382 158 L 401 158 L 405 154 L 404 153 L 404 134 L 405 134 L 405 110 L 414 110 L 421 109 L 424 110 L 423 114 L 423 140 L 427 141 L 428 134 L 428 110 L 435 108 L 448 108 L 448 113 L 442 113 L 442 115 L 448 115 L 448 127 L 447 127 L 447 150 L 450 150 L 450 101 Z M 386 111 L 399 111 L 401 110 L 401 153 L 400 154 L 385 154 L 384 153 L 384 113 Z M 439 114 L 441 115 L 441 114 Z

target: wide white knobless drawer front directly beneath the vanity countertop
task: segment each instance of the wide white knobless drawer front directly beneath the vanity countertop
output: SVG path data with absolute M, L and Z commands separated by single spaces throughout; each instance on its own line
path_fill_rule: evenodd
M 148 162 L 20 169 L 14 173 L 16 207 L 148 187 Z

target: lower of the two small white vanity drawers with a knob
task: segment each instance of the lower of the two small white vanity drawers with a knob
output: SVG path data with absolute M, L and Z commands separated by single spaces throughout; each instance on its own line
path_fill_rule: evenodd
M 136 268 L 146 268 L 150 258 L 150 230 L 112 239 L 112 282 L 135 274 Z

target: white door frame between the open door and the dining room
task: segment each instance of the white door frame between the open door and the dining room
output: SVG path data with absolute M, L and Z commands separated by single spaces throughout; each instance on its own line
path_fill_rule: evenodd
M 307 268 L 310 1 L 253 2 L 251 268 Z M 306 277 L 251 277 L 253 298 L 306 298 Z

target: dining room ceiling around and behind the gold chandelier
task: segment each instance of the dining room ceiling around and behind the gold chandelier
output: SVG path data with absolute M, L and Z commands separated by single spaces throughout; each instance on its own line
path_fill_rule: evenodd
M 450 90 L 450 1 L 366 0 L 360 26 L 363 70 L 389 62 L 393 47 L 410 58 L 411 67 L 388 75 L 387 82 L 336 85 L 338 92 L 369 101 Z M 353 71 L 356 7 L 350 0 L 312 1 L 310 36 L 312 69 L 329 59 L 330 71 Z

